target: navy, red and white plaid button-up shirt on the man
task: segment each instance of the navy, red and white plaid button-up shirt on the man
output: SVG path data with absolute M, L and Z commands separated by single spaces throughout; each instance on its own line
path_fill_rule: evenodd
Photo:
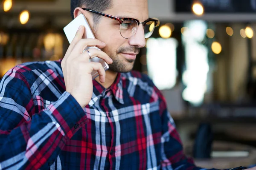
M 166 102 L 132 71 L 93 80 L 85 108 L 65 91 L 61 60 L 29 62 L 0 82 L 0 170 L 200 169 L 183 153 Z

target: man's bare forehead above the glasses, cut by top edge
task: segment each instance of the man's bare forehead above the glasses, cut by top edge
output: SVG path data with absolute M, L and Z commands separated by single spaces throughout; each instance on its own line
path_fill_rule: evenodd
M 113 8 L 107 11 L 113 15 L 140 21 L 148 19 L 148 0 L 112 0 L 112 5 Z

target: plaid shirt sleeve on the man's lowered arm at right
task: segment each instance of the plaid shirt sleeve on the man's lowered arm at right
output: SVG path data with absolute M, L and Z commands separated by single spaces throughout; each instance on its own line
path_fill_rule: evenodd
M 163 170 L 205 170 L 196 167 L 193 159 L 183 153 L 183 145 L 176 130 L 175 122 L 168 112 L 166 101 L 159 90 L 155 88 L 160 100 L 160 116 L 162 120 L 161 136 L 161 167 Z M 214 169 L 212 169 L 214 170 Z

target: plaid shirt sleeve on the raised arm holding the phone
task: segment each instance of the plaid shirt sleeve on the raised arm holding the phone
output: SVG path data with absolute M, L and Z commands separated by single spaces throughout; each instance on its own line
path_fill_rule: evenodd
M 88 119 L 76 99 L 64 92 L 36 112 L 29 82 L 12 69 L 0 82 L 0 169 L 36 169 L 54 162 L 65 142 Z

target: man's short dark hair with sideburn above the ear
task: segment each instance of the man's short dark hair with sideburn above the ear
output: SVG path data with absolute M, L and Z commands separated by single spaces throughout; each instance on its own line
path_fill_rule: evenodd
M 112 7 L 112 0 L 70 0 L 70 12 L 71 12 L 71 17 L 74 19 L 74 10 L 76 7 L 82 7 L 85 6 L 88 9 L 94 10 L 94 11 L 100 11 L 104 12 L 105 10 L 109 9 Z M 93 15 L 93 22 L 94 25 L 98 23 L 99 18 L 101 17 L 98 14 Z

